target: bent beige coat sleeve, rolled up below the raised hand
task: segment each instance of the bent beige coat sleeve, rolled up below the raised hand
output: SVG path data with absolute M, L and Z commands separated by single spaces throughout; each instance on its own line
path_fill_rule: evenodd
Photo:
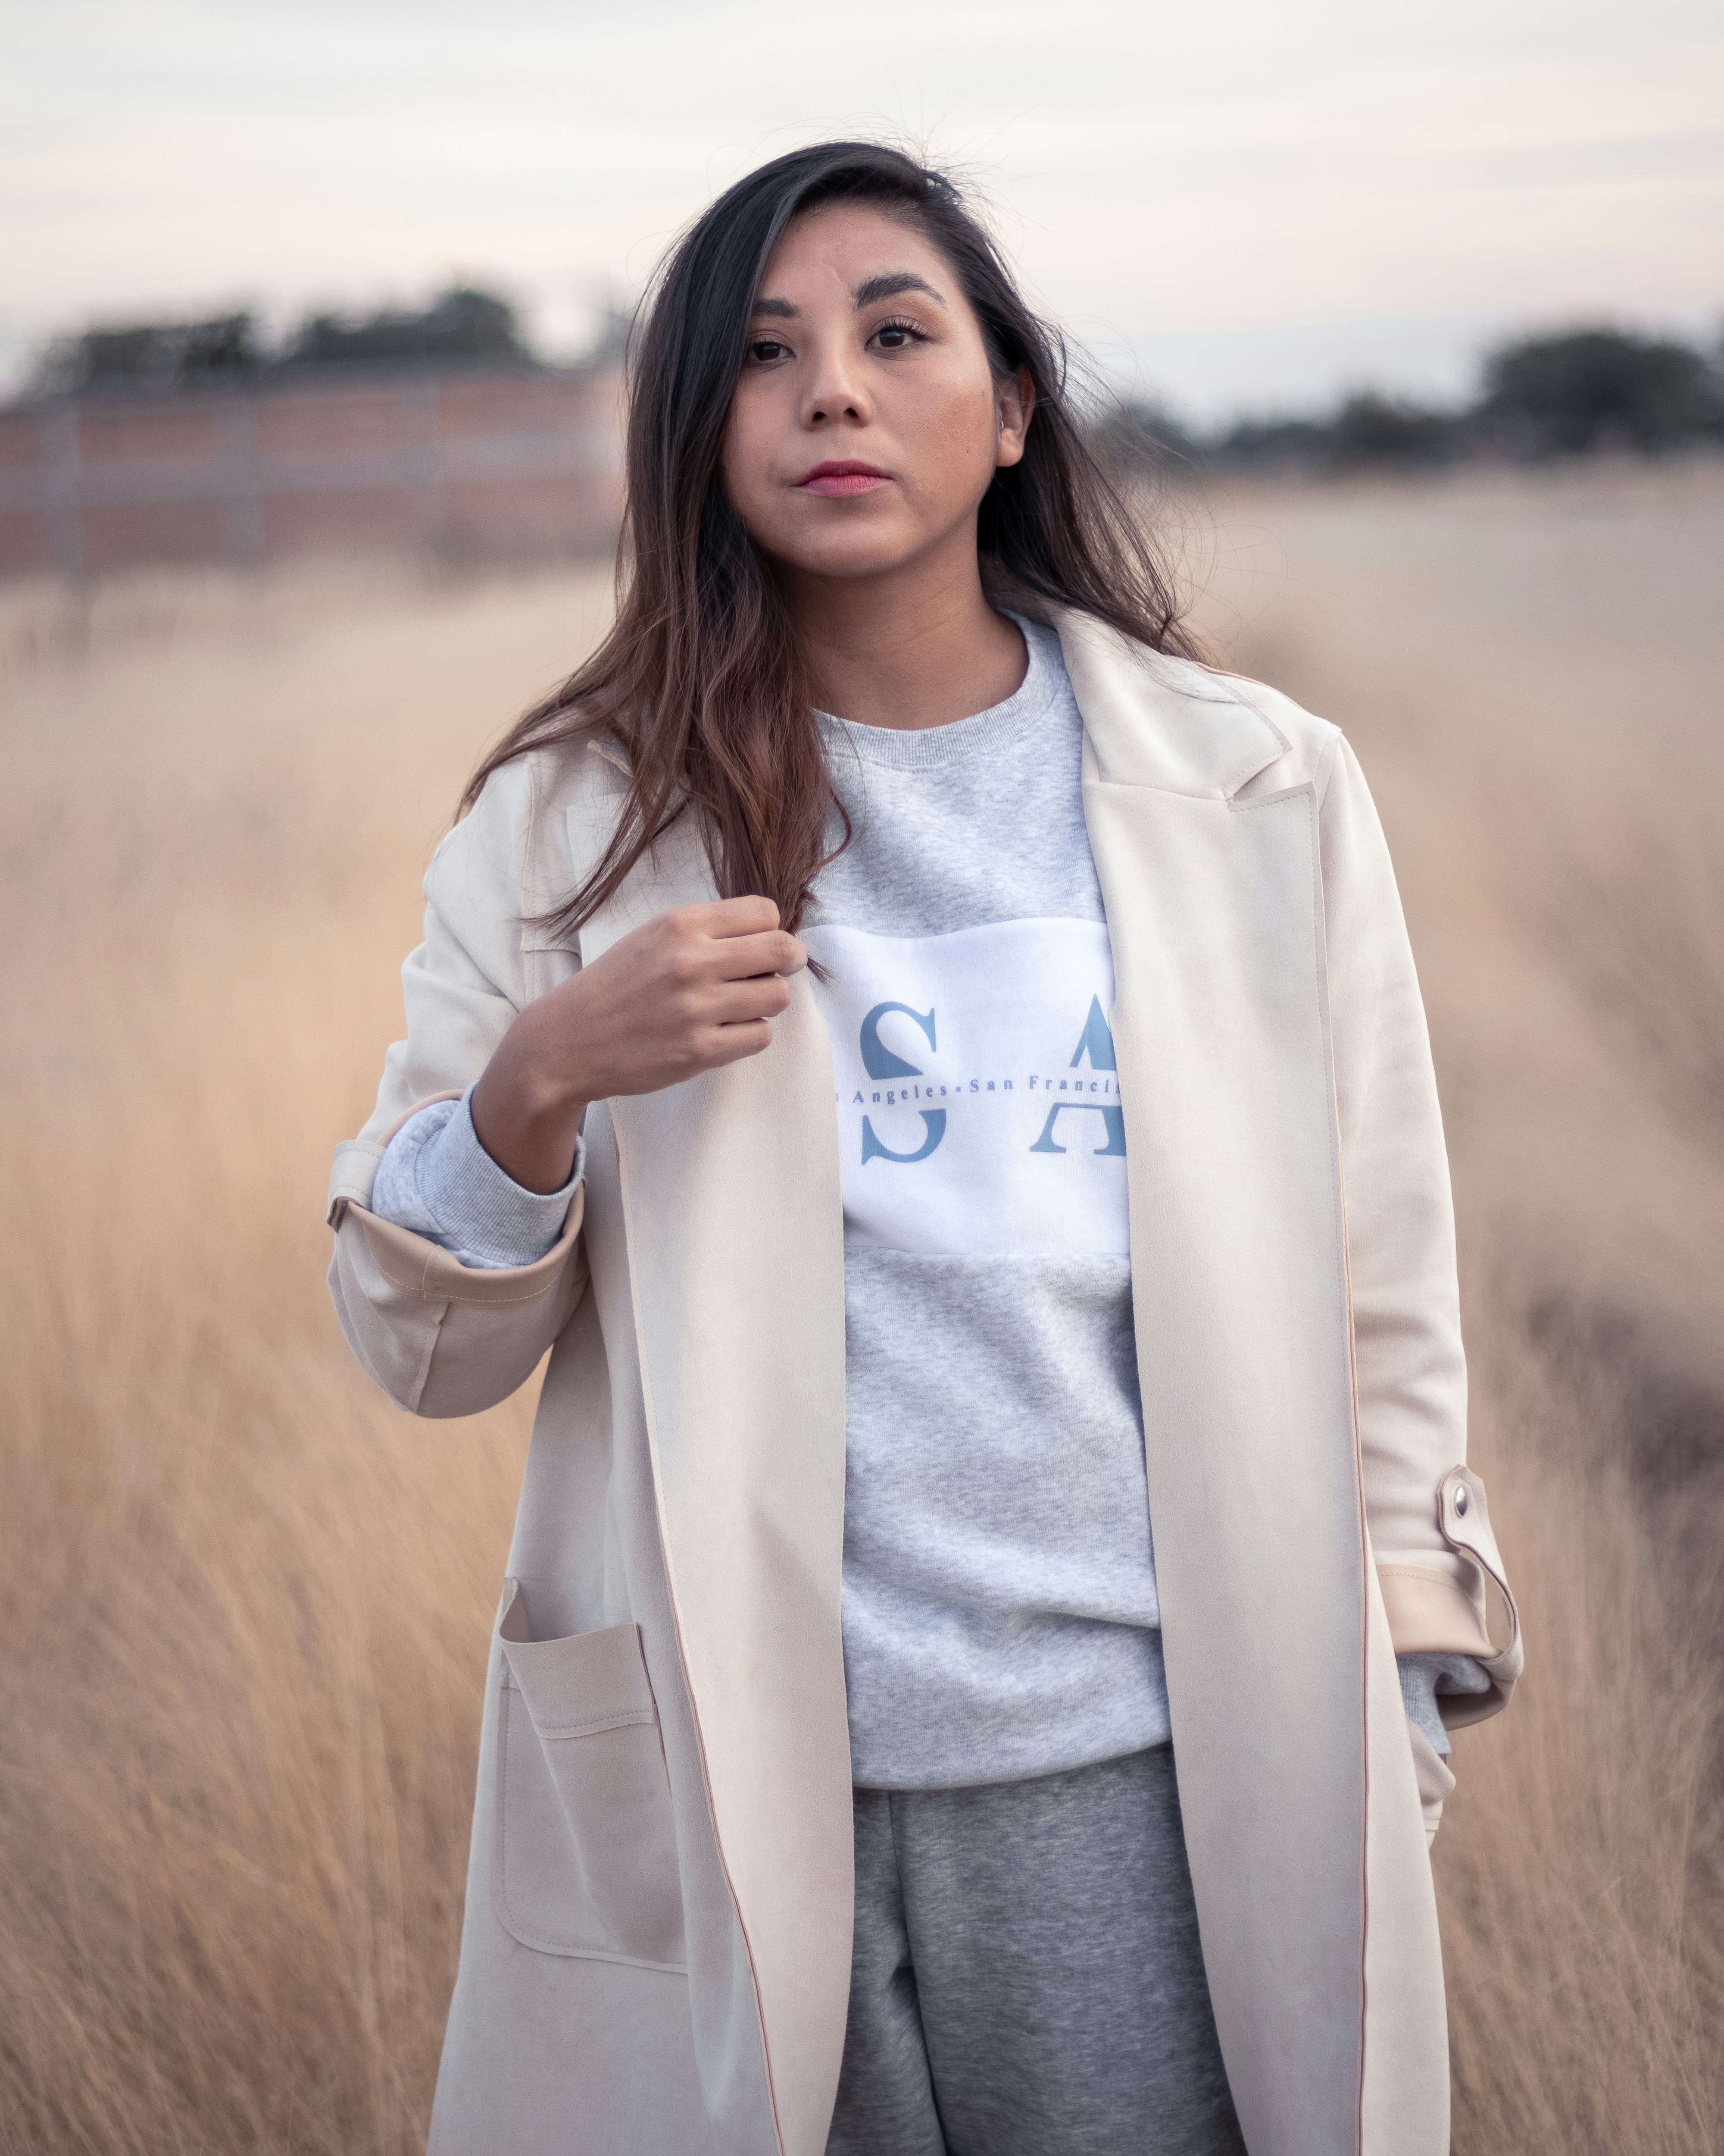
M 476 1414 L 524 1384 L 586 1287 L 584 1186 L 532 1266 L 474 1268 L 371 1212 L 388 1141 L 420 1108 L 483 1074 L 528 1000 L 522 944 L 530 759 L 491 776 L 425 877 L 425 942 L 401 968 L 407 1037 L 384 1061 L 377 1106 L 336 1147 L 330 1296 L 360 1365 L 414 1414 Z

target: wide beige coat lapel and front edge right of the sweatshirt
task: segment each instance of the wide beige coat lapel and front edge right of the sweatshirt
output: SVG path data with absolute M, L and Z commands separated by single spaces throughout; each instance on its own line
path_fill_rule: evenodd
M 1224 681 L 1082 621 L 1060 636 L 1215 2022 L 1252 2156 L 1334 2156 L 1358 2137 L 1366 1580 L 1317 798 L 1233 800 L 1287 742 Z

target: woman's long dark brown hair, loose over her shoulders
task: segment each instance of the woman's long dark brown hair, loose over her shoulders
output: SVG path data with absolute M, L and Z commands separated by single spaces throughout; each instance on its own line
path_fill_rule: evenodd
M 1071 606 L 1157 651 L 1198 655 L 1153 543 L 1067 401 L 1067 351 L 1026 304 L 959 190 L 903 151 L 823 142 L 737 181 L 662 265 L 631 354 L 616 619 L 599 649 L 478 765 L 608 733 L 629 759 L 616 832 L 552 923 L 573 934 L 666 824 L 694 811 L 724 897 L 759 893 L 795 929 L 836 808 L 795 623 L 722 474 L 748 321 L 780 233 L 817 203 L 877 203 L 953 265 L 996 379 L 1028 369 L 1019 464 L 993 474 L 976 543 L 996 604 Z M 838 811 L 843 815 L 843 811 Z

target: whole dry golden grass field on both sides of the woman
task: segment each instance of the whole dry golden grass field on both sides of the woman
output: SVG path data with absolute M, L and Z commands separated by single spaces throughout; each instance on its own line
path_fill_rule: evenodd
M 1437 1839 L 1461 2156 L 1724 2117 L 1724 468 L 1181 509 L 1340 720 L 1431 1003 L 1530 1675 Z M 0 2150 L 407 2156 L 528 1404 L 323 1294 L 418 873 L 606 580 L 0 595 Z M 599 2156 L 599 2152 L 595 2152 Z

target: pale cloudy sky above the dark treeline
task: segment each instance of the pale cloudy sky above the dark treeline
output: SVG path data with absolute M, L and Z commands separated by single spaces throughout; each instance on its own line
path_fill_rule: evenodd
M 1724 317 L 1715 0 L 0 0 L 0 371 L 127 315 L 420 300 L 554 347 L 797 142 L 909 136 L 1194 418 Z

